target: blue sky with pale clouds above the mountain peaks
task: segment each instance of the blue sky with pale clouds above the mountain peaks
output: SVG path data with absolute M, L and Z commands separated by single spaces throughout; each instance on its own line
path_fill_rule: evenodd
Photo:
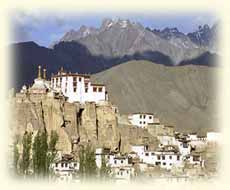
M 208 24 L 212 26 L 218 21 L 217 17 L 209 12 L 77 13 L 42 12 L 39 10 L 32 12 L 14 11 L 10 14 L 10 43 L 34 41 L 40 46 L 48 47 L 71 29 L 78 30 L 82 25 L 99 28 L 105 18 L 129 19 L 131 22 L 139 22 L 152 29 L 177 27 L 179 31 L 184 33 L 197 30 L 199 25 Z

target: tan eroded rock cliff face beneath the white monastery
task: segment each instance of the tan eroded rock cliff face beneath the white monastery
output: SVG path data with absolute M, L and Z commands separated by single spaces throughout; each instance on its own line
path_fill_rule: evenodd
M 127 152 L 130 144 L 152 138 L 144 129 L 119 125 L 117 108 L 110 102 L 80 105 L 48 96 L 17 94 L 10 99 L 10 106 L 13 138 L 17 135 L 20 142 L 25 131 L 36 134 L 45 128 L 50 135 L 54 130 L 59 136 L 56 148 L 64 153 L 77 151 L 79 145 L 89 142 L 95 147 Z

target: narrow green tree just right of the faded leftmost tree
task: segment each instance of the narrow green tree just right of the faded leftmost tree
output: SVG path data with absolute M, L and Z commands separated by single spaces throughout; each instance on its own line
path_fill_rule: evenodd
M 29 174 L 29 166 L 30 166 L 30 151 L 32 144 L 32 133 L 25 132 L 22 139 L 22 160 L 20 164 L 20 169 L 24 176 Z

